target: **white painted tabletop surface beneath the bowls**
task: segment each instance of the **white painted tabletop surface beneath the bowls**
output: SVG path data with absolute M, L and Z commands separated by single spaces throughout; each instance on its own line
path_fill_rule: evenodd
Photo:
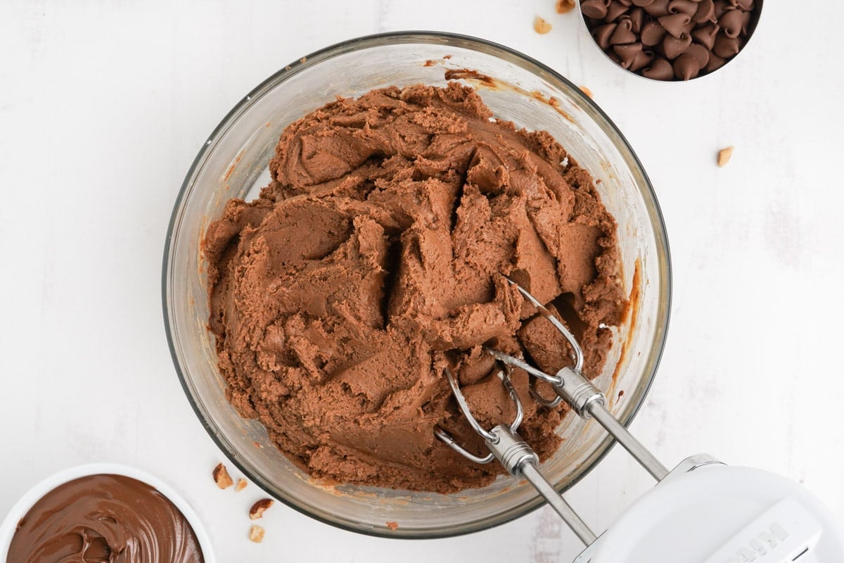
M 548 35 L 533 32 L 535 14 L 554 25 Z M 842 19 L 841 3 L 769 0 L 728 68 L 653 84 L 614 68 L 554 0 L 3 2 L 0 514 L 47 474 L 109 461 L 179 490 L 221 561 L 576 555 L 546 509 L 468 537 L 408 542 L 276 506 L 266 539 L 251 544 L 245 514 L 257 488 L 214 489 L 222 455 L 170 362 L 161 252 L 208 133 L 302 55 L 429 29 L 506 44 L 587 85 L 649 172 L 672 246 L 674 305 L 636 435 L 668 465 L 706 451 L 786 475 L 844 518 Z M 718 169 L 728 145 L 733 160 Z M 617 448 L 570 500 L 601 528 L 650 485 Z

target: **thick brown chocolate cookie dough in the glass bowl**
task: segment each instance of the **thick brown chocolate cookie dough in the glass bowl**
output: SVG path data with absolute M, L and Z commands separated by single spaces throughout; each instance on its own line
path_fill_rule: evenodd
M 496 120 L 454 82 L 377 89 L 289 125 L 270 171 L 208 228 L 209 327 L 230 402 L 314 477 L 441 492 L 495 479 L 497 464 L 434 436 L 483 448 L 443 368 L 491 425 L 512 407 L 484 344 L 569 361 L 502 274 L 556 307 L 600 372 L 626 304 L 616 226 L 549 133 Z M 563 409 L 513 378 L 519 431 L 549 457 Z

